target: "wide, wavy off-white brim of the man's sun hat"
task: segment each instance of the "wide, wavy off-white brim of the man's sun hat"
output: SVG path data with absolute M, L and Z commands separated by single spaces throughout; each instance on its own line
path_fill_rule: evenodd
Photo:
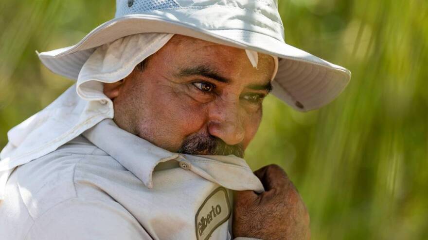
M 278 73 L 272 94 L 298 111 L 318 109 L 336 98 L 351 79 L 351 72 L 271 36 L 247 30 L 205 30 L 150 14 L 114 18 L 89 32 L 79 43 L 38 53 L 56 74 L 77 80 L 80 69 L 96 47 L 121 37 L 145 32 L 166 32 L 277 56 Z

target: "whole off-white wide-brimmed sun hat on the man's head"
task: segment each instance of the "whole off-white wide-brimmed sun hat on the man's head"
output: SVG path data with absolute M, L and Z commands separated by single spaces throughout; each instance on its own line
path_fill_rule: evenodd
M 187 35 L 278 57 L 272 94 L 302 112 L 331 102 L 351 78 L 349 70 L 285 43 L 277 0 L 116 0 L 115 18 L 76 45 L 38 57 L 54 73 L 77 80 L 97 47 L 146 32 Z

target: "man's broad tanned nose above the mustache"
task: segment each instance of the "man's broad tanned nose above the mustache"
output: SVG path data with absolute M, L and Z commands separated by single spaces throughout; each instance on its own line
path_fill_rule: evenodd
M 239 99 L 217 100 L 209 108 L 208 131 L 226 144 L 235 145 L 244 140 L 245 129 L 240 117 Z

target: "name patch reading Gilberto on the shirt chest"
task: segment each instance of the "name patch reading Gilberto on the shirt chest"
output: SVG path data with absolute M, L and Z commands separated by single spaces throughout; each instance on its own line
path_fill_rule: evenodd
M 212 192 L 196 212 L 197 240 L 207 240 L 214 230 L 226 222 L 232 209 L 227 190 L 219 187 Z

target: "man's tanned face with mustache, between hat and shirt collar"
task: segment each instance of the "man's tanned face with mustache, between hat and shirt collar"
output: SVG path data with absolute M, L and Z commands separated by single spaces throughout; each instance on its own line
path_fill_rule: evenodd
M 124 80 L 106 84 L 114 121 L 172 152 L 243 157 L 271 89 L 271 56 L 174 37 Z

